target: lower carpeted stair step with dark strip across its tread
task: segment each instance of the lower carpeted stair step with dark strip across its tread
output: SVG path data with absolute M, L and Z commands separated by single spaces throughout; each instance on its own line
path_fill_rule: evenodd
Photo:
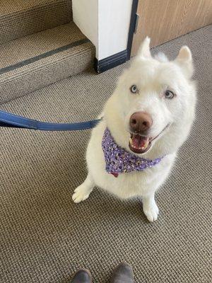
M 0 45 L 0 103 L 92 67 L 95 47 L 71 22 Z

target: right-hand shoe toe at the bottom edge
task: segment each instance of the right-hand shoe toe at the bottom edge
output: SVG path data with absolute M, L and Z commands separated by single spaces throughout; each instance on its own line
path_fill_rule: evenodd
M 134 274 L 130 265 L 120 263 L 112 273 L 112 283 L 133 283 Z

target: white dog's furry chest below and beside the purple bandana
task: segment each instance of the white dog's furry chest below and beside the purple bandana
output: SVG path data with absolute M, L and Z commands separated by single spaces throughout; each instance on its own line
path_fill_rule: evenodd
M 164 158 L 165 160 L 153 166 L 153 168 L 131 173 L 119 173 L 115 177 L 111 173 L 107 173 L 105 168 L 105 156 L 102 151 L 104 131 L 105 128 L 102 125 L 98 125 L 94 129 L 86 154 L 88 170 L 93 176 L 95 185 L 121 198 L 145 195 L 146 192 L 153 190 L 160 179 L 165 177 L 170 167 L 165 161 L 167 158 Z

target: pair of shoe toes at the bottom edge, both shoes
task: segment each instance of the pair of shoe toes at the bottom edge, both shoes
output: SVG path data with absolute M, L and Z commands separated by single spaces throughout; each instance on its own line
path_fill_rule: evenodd
M 112 273 L 112 283 L 133 283 L 134 275 L 130 265 L 121 263 Z M 89 270 L 78 270 L 70 283 L 92 283 L 92 277 Z

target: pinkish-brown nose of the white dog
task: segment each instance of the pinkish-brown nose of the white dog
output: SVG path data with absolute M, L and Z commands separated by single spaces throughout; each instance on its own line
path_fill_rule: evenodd
M 153 120 L 146 112 L 135 112 L 129 119 L 129 125 L 132 132 L 142 134 L 153 125 Z

